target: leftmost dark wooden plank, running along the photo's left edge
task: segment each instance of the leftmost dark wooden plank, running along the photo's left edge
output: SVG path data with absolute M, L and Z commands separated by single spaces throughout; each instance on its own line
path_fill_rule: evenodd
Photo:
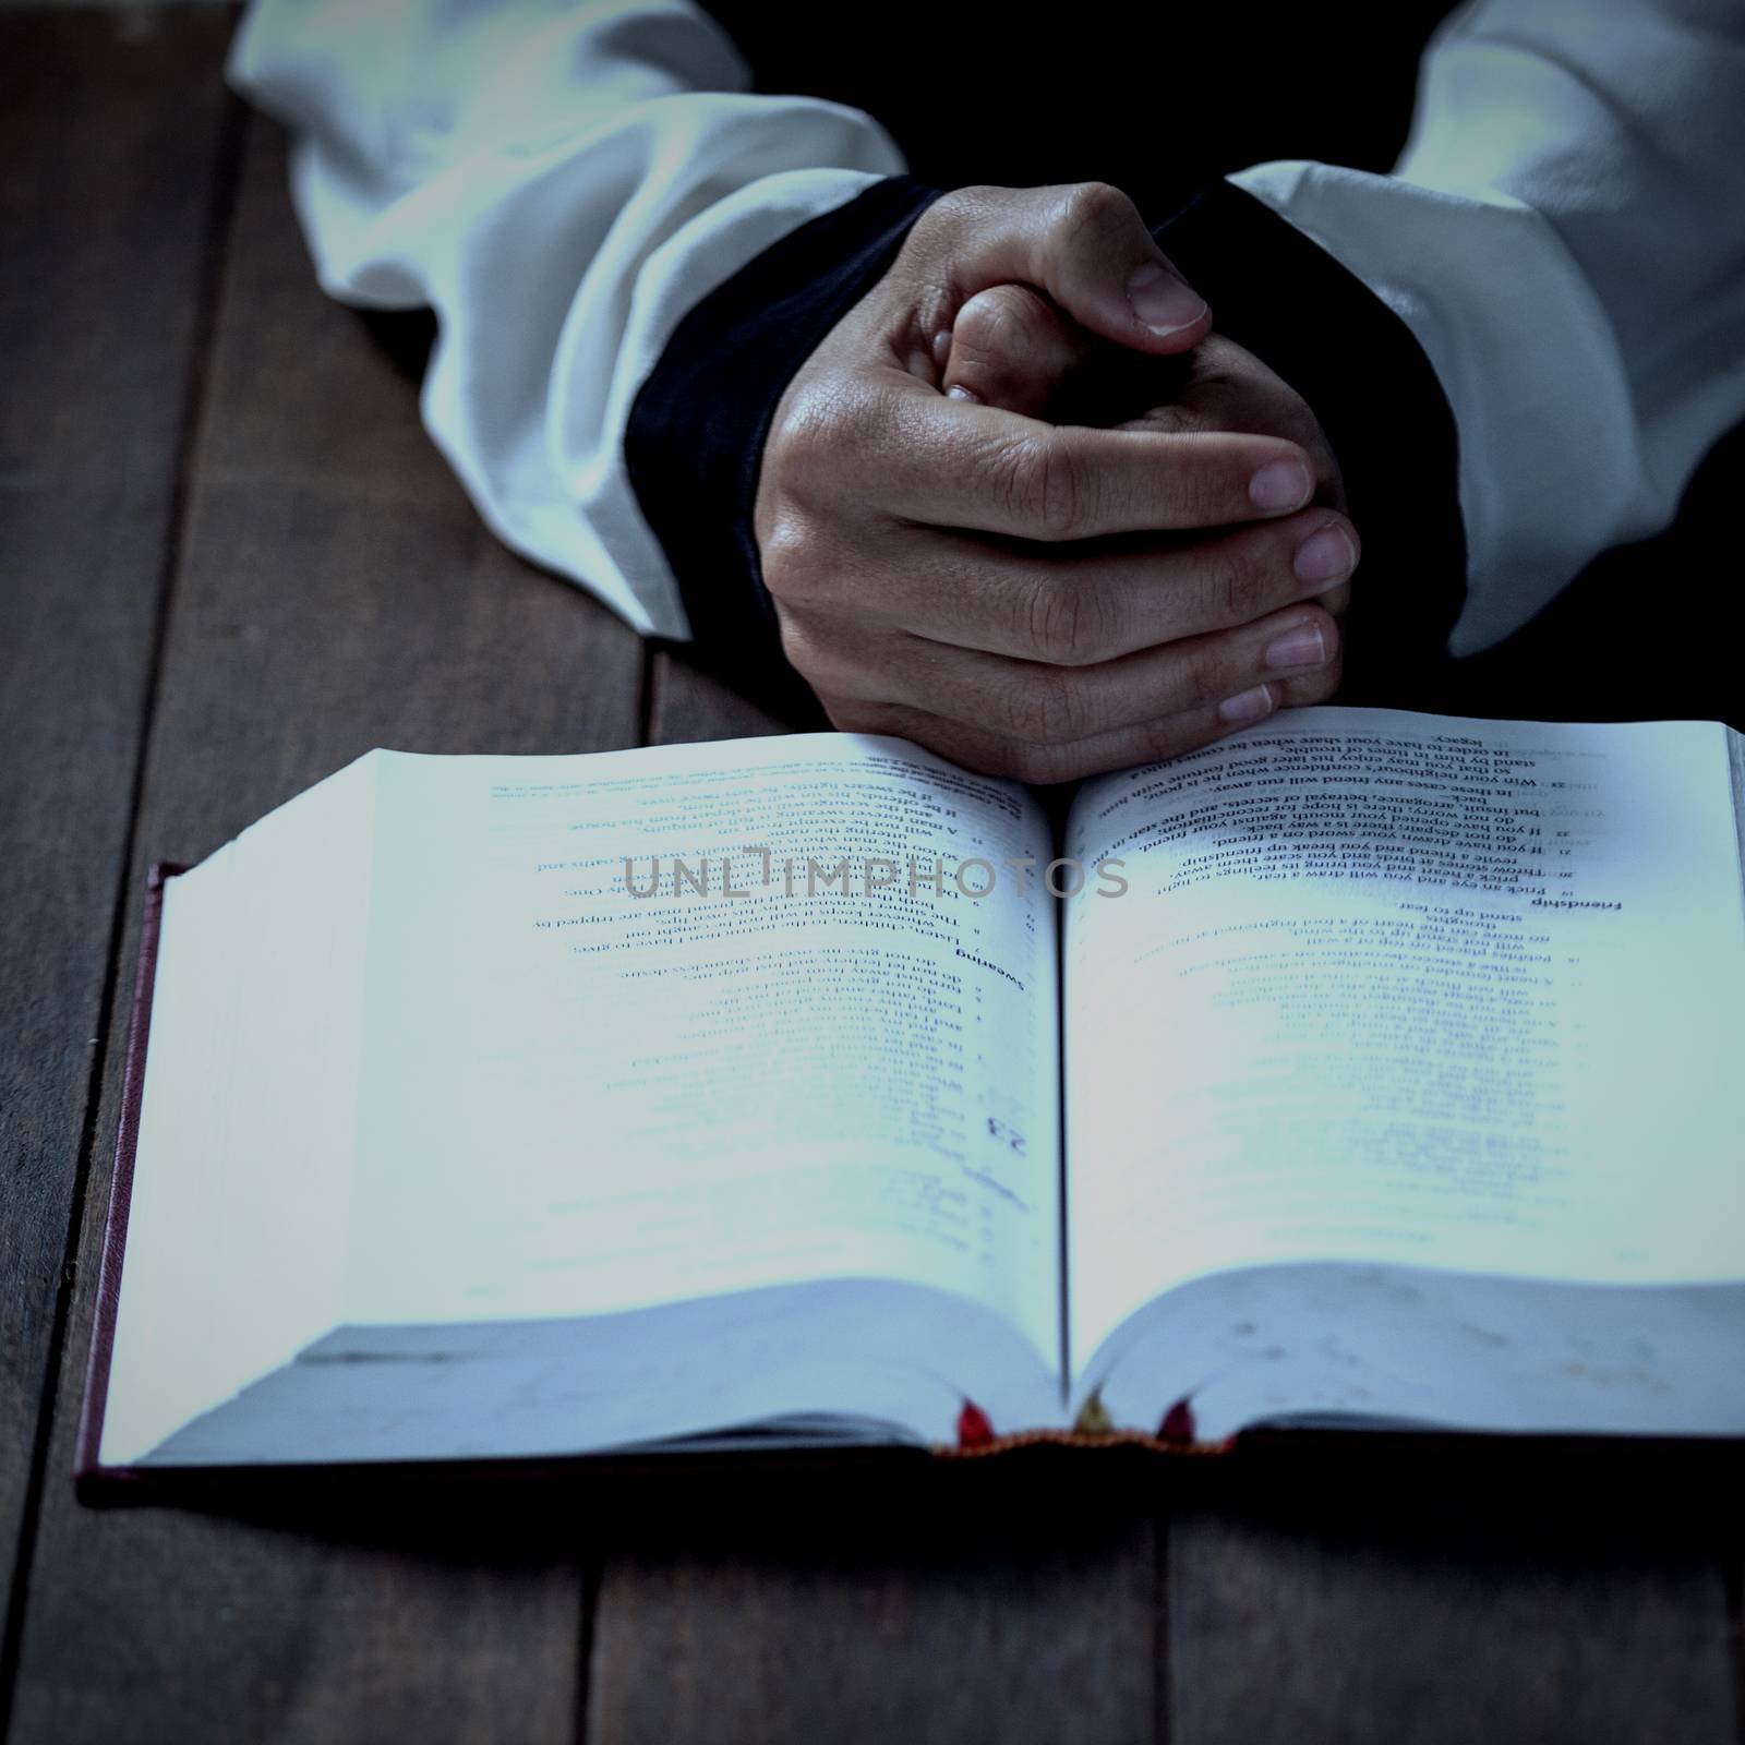
M 0 12 L 0 1564 L 37 1424 L 99 1057 L 188 379 L 222 16 Z M 101 117 L 94 122 L 92 117 Z M 216 201 L 222 204 L 222 199 Z M 16 1651 L 7 1600 L 0 1712 Z

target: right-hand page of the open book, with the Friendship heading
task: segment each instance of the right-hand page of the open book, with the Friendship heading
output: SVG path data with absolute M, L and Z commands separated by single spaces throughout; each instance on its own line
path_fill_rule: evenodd
M 1188 1277 L 1745 1277 L 1726 729 L 1291 710 L 1087 784 L 1071 1349 Z

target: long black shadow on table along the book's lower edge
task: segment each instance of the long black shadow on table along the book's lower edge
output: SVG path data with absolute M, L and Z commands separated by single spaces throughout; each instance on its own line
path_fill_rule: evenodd
M 108 1501 L 440 1562 L 635 1551 L 927 1567 L 1084 1553 L 1141 1516 L 1216 1515 L 1393 1555 L 1557 1562 L 1745 1548 L 1745 1441 L 1263 1433 L 1223 1455 L 838 1450 L 455 1471 L 188 1475 Z

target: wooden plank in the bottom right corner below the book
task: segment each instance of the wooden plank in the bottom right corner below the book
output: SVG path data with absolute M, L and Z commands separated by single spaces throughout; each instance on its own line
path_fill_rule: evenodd
M 1733 1745 L 1722 1464 L 1504 1447 L 1249 1475 L 1171 1525 L 1167 1736 Z

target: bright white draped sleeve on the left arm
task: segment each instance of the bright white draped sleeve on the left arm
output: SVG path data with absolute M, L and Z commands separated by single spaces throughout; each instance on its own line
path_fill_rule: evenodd
M 424 422 L 485 522 L 686 637 L 625 469 L 632 400 L 712 288 L 902 171 L 885 131 L 749 94 L 686 0 L 255 0 L 230 80 L 293 129 L 321 284 L 435 309 Z

